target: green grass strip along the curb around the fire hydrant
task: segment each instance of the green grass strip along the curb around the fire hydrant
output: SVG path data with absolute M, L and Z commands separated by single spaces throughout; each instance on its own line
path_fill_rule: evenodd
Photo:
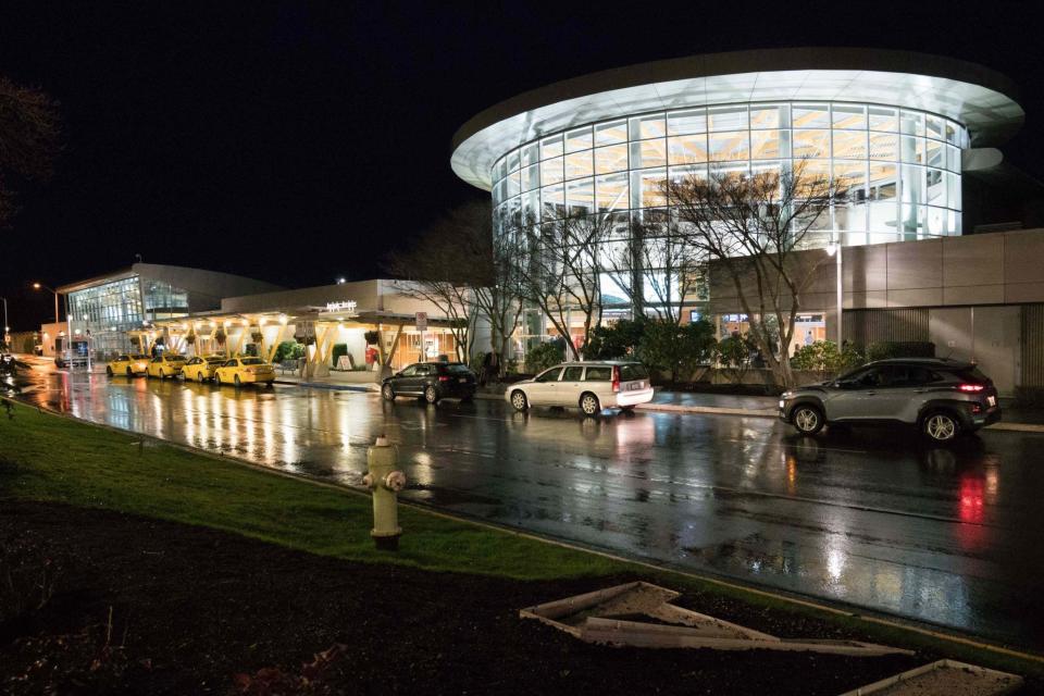
M 411 507 L 399 510 L 405 530 L 399 551 L 381 552 L 370 538 L 368 496 L 4 402 L 12 405 L 9 410 L 0 408 L 0 501 L 13 498 L 116 510 L 365 563 L 523 581 L 589 576 L 592 589 L 599 587 L 599 576 L 641 573 L 650 582 L 686 594 L 726 595 L 772 611 L 813 616 L 856 629 L 878 643 L 929 649 L 1037 679 L 1044 675 L 1041 662 L 655 571 Z

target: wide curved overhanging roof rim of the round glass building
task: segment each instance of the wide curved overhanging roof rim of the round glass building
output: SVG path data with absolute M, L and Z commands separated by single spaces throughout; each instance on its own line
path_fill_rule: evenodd
M 974 63 L 906 51 L 775 49 L 643 63 L 534 89 L 487 109 L 453 137 L 451 166 L 478 188 L 508 150 L 543 135 L 651 111 L 768 101 L 906 107 L 964 123 L 975 147 L 1022 125 L 1016 88 Z

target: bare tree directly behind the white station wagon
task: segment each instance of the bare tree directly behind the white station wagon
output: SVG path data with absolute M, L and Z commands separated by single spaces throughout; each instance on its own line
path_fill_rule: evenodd
M 522 229 L 525 239 L 515 257 L 522 296 L 539 308 L 569 344 L 573 359 L 580 359 L 591 330 L 601 321 L 602 244 L 619 222 L 611 213 L 574 214 L 532 223 Z M 573 313 L 582 318 L 583 338 L 579 349 L 571 338 Z

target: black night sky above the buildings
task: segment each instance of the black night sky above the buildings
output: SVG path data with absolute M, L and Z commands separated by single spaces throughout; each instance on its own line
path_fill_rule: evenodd
M 475 113 L 695 53 L 832 45 L 981 63 L 1021 90 L 1006 157 L 1044 178 L 1035 4 L 3 2 L 0 73 L 61 102 L 64 152 L 0 231 L 0 296 L 14 330 L 38 327 L 52 298 L 33 281 L 136 253 L 290 287 L 376 277 L 388 250 L 487 196 L 449 167 Z

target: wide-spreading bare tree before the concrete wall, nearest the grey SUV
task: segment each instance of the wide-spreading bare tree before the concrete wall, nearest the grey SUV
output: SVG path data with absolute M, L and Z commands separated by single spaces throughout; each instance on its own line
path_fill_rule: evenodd
M 831 204 L 844 199 L 844 184 L 797 162 L 783 171 L 689 175 L 662 186 L 682 239 L 733 284 L 749 339 L 776 383 L 793 386 L 786 346 L 819 263 L 793 251 Z

